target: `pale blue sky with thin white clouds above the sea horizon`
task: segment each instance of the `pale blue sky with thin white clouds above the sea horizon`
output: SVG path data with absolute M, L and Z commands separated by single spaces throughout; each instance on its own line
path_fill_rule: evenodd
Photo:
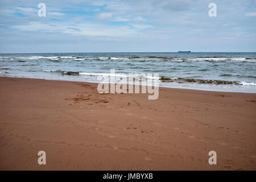
M 256 52 L 256 0 L 0 1 L 0 53 L 180 50 Z

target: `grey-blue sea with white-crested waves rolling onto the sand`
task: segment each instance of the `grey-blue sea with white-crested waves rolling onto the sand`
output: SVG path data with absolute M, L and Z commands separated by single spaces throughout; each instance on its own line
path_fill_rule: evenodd
M 159 75 L 159 86 L 256 93 L 256 52 L 1 53 L 0 76 L 100 82 Z M 145 77 L 145 76 L 144 76 Z M 145 79 L 150 79 L 147 77 Z

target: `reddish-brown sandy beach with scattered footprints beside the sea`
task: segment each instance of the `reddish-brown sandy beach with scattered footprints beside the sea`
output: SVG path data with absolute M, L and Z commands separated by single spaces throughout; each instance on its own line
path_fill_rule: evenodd
M 86 82 L 0 85 L 1 170 L 256 170 L 256 94 L 159 88 L 148 100 Z

